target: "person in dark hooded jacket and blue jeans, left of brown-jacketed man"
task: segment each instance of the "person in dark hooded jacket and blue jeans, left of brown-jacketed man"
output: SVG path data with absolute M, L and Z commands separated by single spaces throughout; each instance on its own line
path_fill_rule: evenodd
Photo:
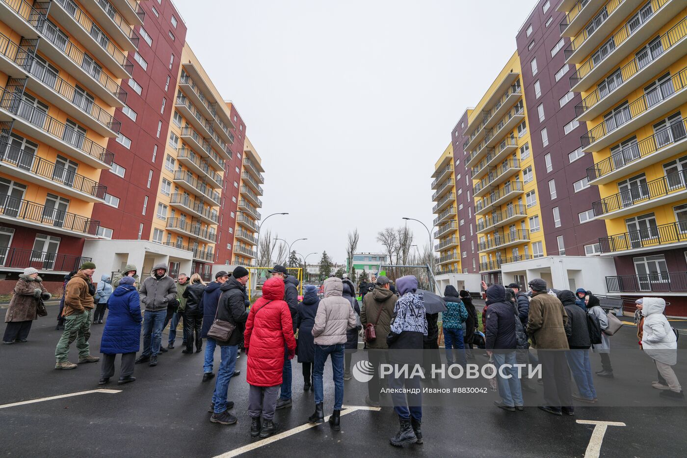
M 515 335 L 515 307 L 506 301 L 506 288 L 503 285 L 491 285 L 486 290 L 486 312 L 485 340 L 486 352 L 493 356 L 497 367 L 497 382 L 499 384 L 499 395 L 501 401 L 494 401 L 494 404 L 506 411 L 523 410 L 522 391 L 520 379 L 515 370 L 516 358 L 515 349 L 517 338 Z M 506 367 L 502 368 L 502 366 Z M 510 375 L 504 378 L 502 375 Z

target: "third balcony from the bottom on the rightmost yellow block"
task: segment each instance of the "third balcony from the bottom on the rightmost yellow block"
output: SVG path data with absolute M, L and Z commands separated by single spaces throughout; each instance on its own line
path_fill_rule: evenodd
M 675 201 L 687 200 L 687 171 L 671 173 L 629 190 L 592 202 L 594 216 L 614 219 Z

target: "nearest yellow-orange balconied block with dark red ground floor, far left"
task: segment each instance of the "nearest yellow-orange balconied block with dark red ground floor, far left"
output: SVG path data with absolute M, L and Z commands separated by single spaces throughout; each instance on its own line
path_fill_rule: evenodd
M 104 235 L 94 205 L 111 204 L 104 176 L 121 173 L 122 80 L 141 45 L 132 0 L 0 1 L 0 265 L 59 280 Z M 89 253 L 85 254 L 90 257 Z

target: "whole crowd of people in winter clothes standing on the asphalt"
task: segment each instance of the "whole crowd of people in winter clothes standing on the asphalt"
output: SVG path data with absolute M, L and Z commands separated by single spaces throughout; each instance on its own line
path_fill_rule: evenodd
M 121 355 L 117 383 L 134 382 L 135 364 L 147 362 L 155 367 L 161 353 L 174 349 L 177 326 L 183 320 L 182 353 L 201 353 L 204 340 L 202 381 L 216 376 L 208 411 L 210 422 L 237 422 L 229 412 L 234 402 L 228 400 L 228 390 L 232 378 L 240 375 L 235 370 L 236 360 L 243 349 L 247 356 L 250 434 L 265 438 L 280 429 L 275 411 L 293 405 L 291 360 L 296 353 L 297 362 L 302 364 L 303 390 L 314 392 L 314 412 L 308 417 L 313 424 L 324 422 L 323 376 L 330 360 L 335 390 L 328 422 L 333 430 L 340 429 L 344 380 L 351 378 L 352 353 L 358 349 L 359 336 L 363 336 L 373 368 L 365 402 L 379 407 L 381 393 L 390 389 L 399 421 L 390 443 L 423 443 L 420 379 L 379 376 L 383 362 L 427 364 L 423 349 L 436 349 L 438 355 L 438 313 L 427 313 L 415 276 L 402 276 L 395 285 L 386 276 L 361 284 L 362 306 L 355 285 L 346 275 L 343 279 L 331 276 L 324 281 L 322 298 L 315 285 L 306 285 L 299 302 L 298 279 L 284 266 L 275 265 L 269 270 L 271 278 L 264 282 L 262 296 L 251 305 L 245 287 L 249 270 L 243 267 L 235 268 L 232 274 L 217 272 L 215 280 L 207 284 L 199 274 L 179 274 L 175 281 L 164 263 L 155 265 L 144 281 L 139 281 L 135 265 L 126 265 L 113 279 L 101 276 L 97 287 L 91 279 L 93 272 L 95 264 L 85 262 L 65 276 L 57 327 L 63 334 L 55 349 L 56 369 L 76 369 L 78 364 L 100 361 L 91 355 L 89 337 L 91 324 L 104 322 L 98 384 L 108 384 L 115 374 L 117 355 Z M 35 269 L 27 268 L 19 277 L 5 315 L 3 343 L 7 345 L 27 341 L 33 320 L 45 314 L 43 303 L 51 297 Z M 487 287 L 482 282 L 486 292 L 482 333 L 470 293 L 448 285 L 443 298 L 446 311 L 441 317 L 447 362 L 464 366 L 467 360 L 475 359 L 475 347 L 484 348 L 497 367 L 501 400 L 495 405 L 506 411 L 523 410 L 522 392 L 536 391 L 528 380 L 517 376 L 516 362 L 539 362 L 544 398 L 539 408 L 553 415 L 574 415 L 572 400 L 598 401 L 590 348 L 600 354 L 602 362 L 596 375 L 613 378 L 609 316 L 598 298 L 584 289 L 552 292 L 542 279 L 533 279 L 528 286 L 529 291 L 523 292 L 515 283 Z M 658 380 L 652 386 L 662 397 L 682 400 L 682 388 L 672 369 L 677 338 L 664 308 L 661 298 L 637 301 L 637 336 L 657 368 Z M 165 348 L 162 331 L 168 325 Z M 78 364 L 69 360 L 74 342 Z M 220 360 L 214 373 L 216 347 L 220 347 Z M 528 351 L 530 347 L 537 349 L 536 357 Z M 572 392 L 572 380 L 576 393 Z M 403 394 L 403 389 L 408 393 Z

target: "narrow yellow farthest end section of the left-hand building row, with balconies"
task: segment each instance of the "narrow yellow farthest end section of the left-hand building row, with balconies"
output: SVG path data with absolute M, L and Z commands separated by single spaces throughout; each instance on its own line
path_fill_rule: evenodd
M 238 215 L 234 229 L 234 264 L 255 265 L 258 257 L 258 226 L 262 215 L 262 186 L 264 169 L 253 144 L 245 138 L 243 146 L 243 172 L 238 191 Z

